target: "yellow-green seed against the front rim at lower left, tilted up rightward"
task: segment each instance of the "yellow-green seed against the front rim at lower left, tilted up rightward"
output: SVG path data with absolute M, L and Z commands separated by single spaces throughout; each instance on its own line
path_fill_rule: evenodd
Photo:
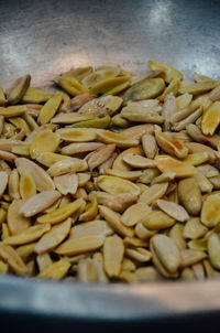
M 54 262 L 48 268 L 44 269 L 38 278 L 50 278 L 50 279 L 62 279 L 64 278 L 70 268 L 70 262 L 67 258 L 62 258 L 58 261 Z

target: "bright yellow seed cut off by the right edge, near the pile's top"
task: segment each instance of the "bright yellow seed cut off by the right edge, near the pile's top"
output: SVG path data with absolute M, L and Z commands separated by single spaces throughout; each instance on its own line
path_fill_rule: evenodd
M 206 136 L 212 136 L 220 122 L 220 101 L 215 101 L 204 112 L 201 120 L 201 131 Z

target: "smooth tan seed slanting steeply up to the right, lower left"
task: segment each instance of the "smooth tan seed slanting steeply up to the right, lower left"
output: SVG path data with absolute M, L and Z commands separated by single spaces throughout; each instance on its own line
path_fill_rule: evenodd
M 53 250 L 58 246 L 69 234 L 72 218 L 67 218 L 63 223 L 53 226 L 46 234 L 42 236 L 35 246 L 36 254 L 44 254 Z

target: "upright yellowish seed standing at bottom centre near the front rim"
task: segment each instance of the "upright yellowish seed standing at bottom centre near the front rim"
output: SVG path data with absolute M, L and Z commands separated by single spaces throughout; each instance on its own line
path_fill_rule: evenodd
M 108 237 L 103 245 L 103 262 L 106 272 L 110 278 L 119 276 L 123 255 L 122 239 L 117 235 Z

